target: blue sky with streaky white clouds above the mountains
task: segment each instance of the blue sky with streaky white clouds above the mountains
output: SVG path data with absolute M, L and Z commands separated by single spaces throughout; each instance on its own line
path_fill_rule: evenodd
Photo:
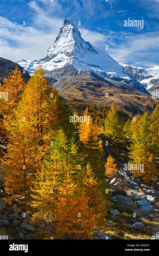
M 1 57 L 45 57 L 65 18 L 80 21 L 82 37 L 119 63 L 159 65 L 159 0 L 1 0 Z M 128 18 L 144 28 L 124 27 Z

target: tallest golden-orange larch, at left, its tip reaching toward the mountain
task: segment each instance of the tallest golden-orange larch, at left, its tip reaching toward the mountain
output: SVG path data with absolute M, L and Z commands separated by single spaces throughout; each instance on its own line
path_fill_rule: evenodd
M 2 168 L 9 170 L 5 179 L 6 190 L 11 194 L 10 201 L 25 194 L 24 201 L 29 202 L 30 189 L 35 178 L 31 173 L 36 174 L 42 168 L 60 120 L 66 120 L 66 114 L 68 115 L 60 101 L 57 91 L 50 87 L 43 69 L 39 67 L 14 110 L 15 119 L 8 126 L 11 133 L 9 150 Z M 67 122 L 68 120 L 69 118 Z M 25 176 L 27 180 L 24 179 Z

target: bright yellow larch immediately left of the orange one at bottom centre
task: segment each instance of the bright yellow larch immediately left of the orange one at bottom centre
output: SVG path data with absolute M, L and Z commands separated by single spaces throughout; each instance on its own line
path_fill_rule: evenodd
M 32 184 L 32 200 L 30 206 L 34 211 L 32 221 L 41 225 L 50 234 L 55 230 L 57 221 L 58 188 L 60 172 L 50 162 L 44 162 L 37 171 Z

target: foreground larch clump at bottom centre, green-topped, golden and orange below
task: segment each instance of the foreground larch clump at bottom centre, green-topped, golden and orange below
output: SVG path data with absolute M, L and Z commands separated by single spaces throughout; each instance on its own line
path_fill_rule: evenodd
M 38 174 L 32 190 L 31 205 L 37 211 L 33 220 L 42 226 L 47 224 L 50 232 L 55 229 L 55 238 L 88 238 L 96 224 L 96 214 L 89 208 L 88 197 L 80 183 L 74 139 L 69 141 L 60 129 L 46 159 L 45 170 Z

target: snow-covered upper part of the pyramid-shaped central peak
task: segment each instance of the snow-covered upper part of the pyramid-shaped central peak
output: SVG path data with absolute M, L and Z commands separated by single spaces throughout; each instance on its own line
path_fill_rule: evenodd
M 63 27 L 47 52 L 47 56 L 40 60 L 21 60 L 17 62 L 30 74 L 39 64 L 45 70 L 52 71 L 72 65 L 76 70 L 90 70 L 102 77 L 121 77 L 130 80 L 130 75 L 121 65 L 113 60 L 106 52 L 97 49 L 86 42 L 77 26 L 68 19 L 64 20 Z

